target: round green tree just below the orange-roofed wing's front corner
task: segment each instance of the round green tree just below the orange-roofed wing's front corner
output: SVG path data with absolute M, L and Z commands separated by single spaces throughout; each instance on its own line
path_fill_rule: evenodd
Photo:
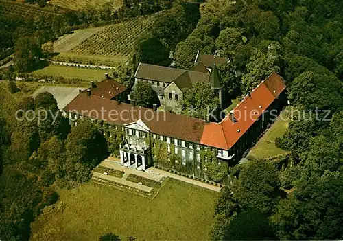
M 270 161 L 256 159 L 243 164 L 233 197 L 245 209 L 268 214 L 279 201 L 279 174 Z

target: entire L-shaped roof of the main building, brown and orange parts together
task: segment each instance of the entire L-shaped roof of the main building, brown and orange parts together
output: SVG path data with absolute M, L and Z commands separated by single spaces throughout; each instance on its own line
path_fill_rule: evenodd
M 154 112 L 140 106 L 132 107 L 126 103 L 119 104 L 115 100 L 108 100 L 93 94 L 88 97 L 86 93 L 80 93 L 78 97 L 75 97 L 64 108 L 64 111 L 78 112 L 79 114 L 82 111 L 87 111 L 83 115 L 119 125 L 130 124 L 141 119 L 152 133 L 228 150 L 235 145 L 284 90 L 285 84 L 281 78 L 276 73 L 272 73 L 268 79 L 263 80 L 250 95 L 244 97 L 244 100 L 233 109 L 235 122 L 228 115 L 220 123 L 210 122 L 206 124 L 202 119 L 163 111 Z M 90 112 L 91 110 L 95 111 Z M 95 115 L 96 112 L 102 113 L 102 110 L 105 111 L 103 117 Z M 120 118 L 110 118 L 111 111 L 112 114 L 113 112 L 121 114 Z

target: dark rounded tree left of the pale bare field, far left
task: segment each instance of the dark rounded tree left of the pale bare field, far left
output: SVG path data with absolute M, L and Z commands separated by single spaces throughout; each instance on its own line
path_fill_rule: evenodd
M 34 69 L 41 56 L 42 49 L 36 38 L 22 37 L 16 41 L 13 62 L 17 71 L 27 72 Z

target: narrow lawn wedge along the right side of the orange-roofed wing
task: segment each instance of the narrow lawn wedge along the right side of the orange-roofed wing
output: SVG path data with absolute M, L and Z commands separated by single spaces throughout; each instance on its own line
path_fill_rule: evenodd
M 265 159 L 274 155 L 287 153 L 287 151 L 275 146 L 275 139 L 276 137 L 282 138 L 288 128 L 288 110 L 289 108 L 286 108 L 285 111 L 281 113 L 281 116 L 276 119 L 276 122 L 272 124 L 272 127 L 267 131 L 267 133 L 265 133 L 265 135 L 259 139 L 255 147 L 252 148 L 248 155 L 252 155 L 253 157 L 257 157 L 259 159 Z

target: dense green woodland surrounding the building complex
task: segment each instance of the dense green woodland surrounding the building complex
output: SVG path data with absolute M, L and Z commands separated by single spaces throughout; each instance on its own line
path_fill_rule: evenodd
M 43 43 L 75 27 L 170 9 L 137 42 L 132 62 L 119 67 L 115 78 L 130 87 L 139 62 L 169 65 L 169 51 L 176 67 L 189 69 L 200 50 L 233 59 L 218 67 L 232 98 L 276 71 L 287 85 L 289 104 L 304 113 L 275 141 L 291 152 L 283 163 L 254 159 L 229 168 L 232 185 L 222 188 L 215 204 L 211 240 L 342 240 L 343 2 L 207 0 L 198 12 L 173 2 L 126 1 L 116 12 L 105 6 L 96 14 L 82 10 L 29 21 L 1 17 L 0 47 L 16 45 L 12 71 L 26 72 L 40 62 Z M 207 91 L 189 91 L 198 95 L 200 113 L 217 101 Z M 58 198 L 54 185 L 87 181 L 107 150 L 99 146 L 86 158 L 93 139 L 104 141 L 89 122 L 70 130 L 62 115 L 54 126 L 14 121 L 18 106 L 56 110 L 53 97 L 13 104 L 11 95 L 0 95 L 0 237 L 27 240 L 30 222 Z M 188 102 L 186 115 L 194 104 Z M 319 119 L 311 117 L 315 112 Z

